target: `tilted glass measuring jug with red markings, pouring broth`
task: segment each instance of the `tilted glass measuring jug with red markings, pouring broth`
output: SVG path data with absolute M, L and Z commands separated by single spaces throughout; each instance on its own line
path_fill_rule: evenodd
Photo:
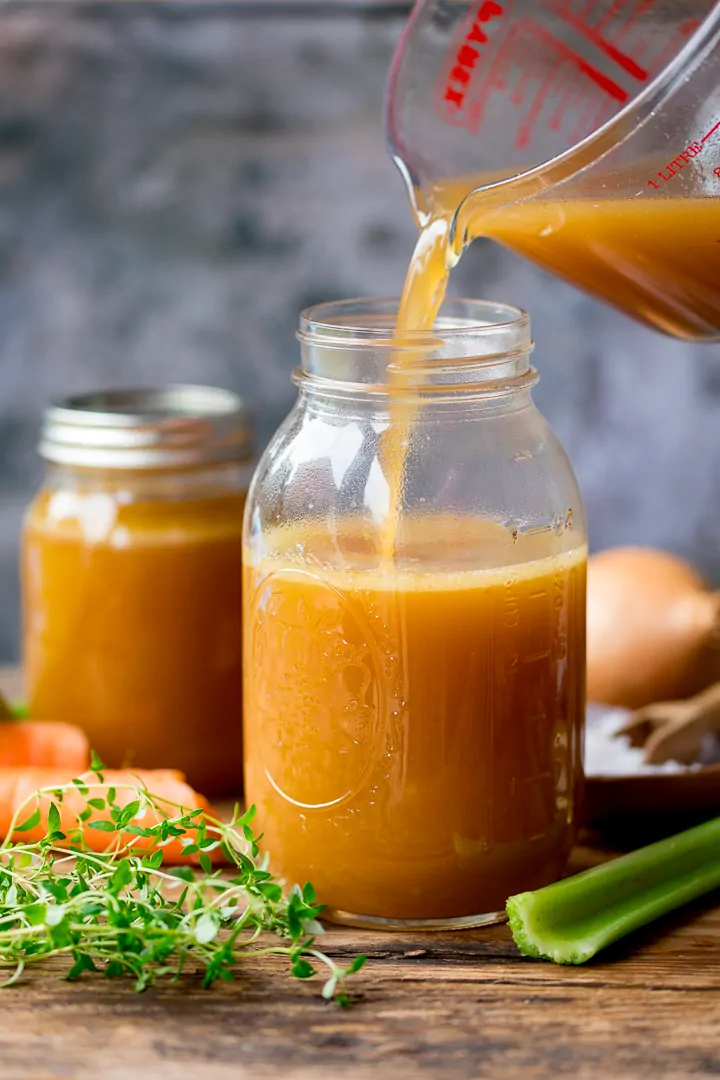
M 720 340 L 720 3 L 419 0 L 386 132 L 450 222 L 675 337 Z

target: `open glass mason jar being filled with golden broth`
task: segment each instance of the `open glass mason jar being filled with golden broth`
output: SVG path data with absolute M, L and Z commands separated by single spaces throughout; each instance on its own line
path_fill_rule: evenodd
M 245 784 L 276 872 L 356 926 L 492 921 L 582 794 L 583 505 L 527 314 L 305 311 L 245 515 Z

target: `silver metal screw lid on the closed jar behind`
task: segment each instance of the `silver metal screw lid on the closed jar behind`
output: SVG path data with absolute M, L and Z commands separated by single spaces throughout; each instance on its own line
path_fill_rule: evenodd
M 181 469 L 246 461 L 253 415 L 242 397 L 215 387 L 111 390 L 45 410 L 40 455 L 81 469 Z

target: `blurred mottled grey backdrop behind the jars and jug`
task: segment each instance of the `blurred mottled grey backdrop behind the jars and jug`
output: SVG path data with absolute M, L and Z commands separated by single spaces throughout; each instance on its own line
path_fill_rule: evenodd
M 0 661 L 49 397 L 196 380 L 293 400 L 300 308 L 396 294 L 415 231 L 382 137 L 400 4 L 0 9 Z M 536 400 L 595 546 L 720 578 L 720 349 L 665 339 L 489 244 L 453 292 L 527 307 Z

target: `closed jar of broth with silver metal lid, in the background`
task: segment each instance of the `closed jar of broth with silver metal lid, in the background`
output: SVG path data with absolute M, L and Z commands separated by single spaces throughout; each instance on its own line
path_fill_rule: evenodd
M 110 766 L 242 784 L 242 519 L 249 414 L 206 387 L 47 410 L 22 577 L 30 714 Z

